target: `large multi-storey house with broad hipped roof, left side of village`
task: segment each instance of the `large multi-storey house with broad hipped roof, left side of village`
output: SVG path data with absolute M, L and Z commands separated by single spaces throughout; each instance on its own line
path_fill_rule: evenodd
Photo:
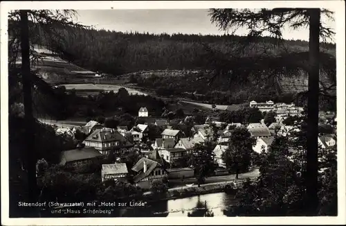
M 86 137 L 83 144 L 95 148 L 102 155 L 108 155 L 111 150 L 114 150 L 115 153 L 126 153 L 134 147 L 134 144 L 112 128 L 95 130 Z

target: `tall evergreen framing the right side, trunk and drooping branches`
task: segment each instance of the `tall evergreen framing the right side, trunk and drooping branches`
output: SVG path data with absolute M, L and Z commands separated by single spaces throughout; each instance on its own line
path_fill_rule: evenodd
M 277 38 L 277 44 L 282 41 L 282 28 L 300 28 L 309 26 L 309 51 L 295 53 L 283 52 L 271 54 L 264 50 L 262 54 L 253 54 L 252 58 L 243 58 L 235 55 L 233 59 L 223 60 L 218 65 L 217 73 L 226 73 L 231 76 L 244 76 L 248 73 L 260 73 L 264 71 L 267 76 L 277 74 L 298 74 L 305 71 L 309 75 L 308 97 L 308 137 L 307 137 L 307 172 L 306 202 L 309 203 L 307 214 L 316 215 L 318 206 L 318 98 L 320 96 L 320 73 L 327 74 L 335 80 L 335 58 L 328 53 L 320 52 L 320 36 L 331 37 L 334 32 L 331 28 L 322 26 L 320 15 L 331 17 L 333 12 L 320 8 L 273 8 L 257 11 L 249 9 L 210 9 L 212 22 L 215 22 L 223 30 L 236 30 L 245 27 L 250 30 L 248 38 L 237 49 L 241 53 L 244 47 L 251 45 L 251 41 L 260 37 L 264 31 L 268 31 Z M 264 48 L 265 49 L 265 48 Z M 255 60 L 253 60 L 255 59 Z M 228 62 L 226 64 L 225 62 Z M 237 67 L 234 67 L 237 64 Z M 225 65 L 227 67 L 225 68 Z M 239 73 L 240 72 L 240 73 Z M 237 73 L 237 74 L 236 74 Z M 244 78 L 244 79 L 245 79 Z M 263 78 L 263 77 L 262 77 Z

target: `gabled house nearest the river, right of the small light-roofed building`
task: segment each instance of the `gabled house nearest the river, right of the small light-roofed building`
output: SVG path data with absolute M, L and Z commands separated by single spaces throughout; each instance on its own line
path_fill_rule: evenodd
M 164 166 L 152 159 L 141 158 L 132 167 L 134 171 L 134 182 L 136 186 L 140 186 L 143 189 L 149 189 L 153 180 L 163 180 L 167 177 L 167 171 Z

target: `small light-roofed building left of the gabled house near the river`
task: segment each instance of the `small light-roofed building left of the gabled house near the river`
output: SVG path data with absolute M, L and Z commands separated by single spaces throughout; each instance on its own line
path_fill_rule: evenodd
M 101 178 L 104 180 L 127 181 L 127 166 L 125 163 L 102 164 Z

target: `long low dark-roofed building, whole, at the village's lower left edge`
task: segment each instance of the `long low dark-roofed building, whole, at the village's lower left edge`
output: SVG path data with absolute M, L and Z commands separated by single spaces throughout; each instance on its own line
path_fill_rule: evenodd
M 102 157 L 93 147 L 78 146 L 72 150 L 64 150 L 60 156 L 62 166 L 84 166 Z

